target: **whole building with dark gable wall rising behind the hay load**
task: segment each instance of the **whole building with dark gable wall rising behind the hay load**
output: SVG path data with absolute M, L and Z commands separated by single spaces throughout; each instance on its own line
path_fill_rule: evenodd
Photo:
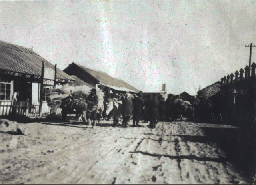
M 138 93 L 139 90 L 124 82 L 123 80 L 119 80 L 108 75 L 105 72 L 94 70 L 91 68 L 87 68 L 80 64 L 72 63 L 68 65 L 67 68 L 63 70 L 65 73 L 69 75 L 75 75 L 87 84 L 91 86 L 98 87 L 108 87 L 113 93 L 116 92 L 130 92 L 130 93 Z

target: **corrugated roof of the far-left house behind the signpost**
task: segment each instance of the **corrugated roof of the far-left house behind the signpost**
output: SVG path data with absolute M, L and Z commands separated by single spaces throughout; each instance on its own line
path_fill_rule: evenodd
M 18 46 L 0 41 L 1 70 L 8 70 L 22 74 L 41 76 L 42 61 L 46 68 L 54 69 L 54 65 L 42 58 L 31 48 Z M 57 79 L 74 80 L 71 76 L 57 68 Z

